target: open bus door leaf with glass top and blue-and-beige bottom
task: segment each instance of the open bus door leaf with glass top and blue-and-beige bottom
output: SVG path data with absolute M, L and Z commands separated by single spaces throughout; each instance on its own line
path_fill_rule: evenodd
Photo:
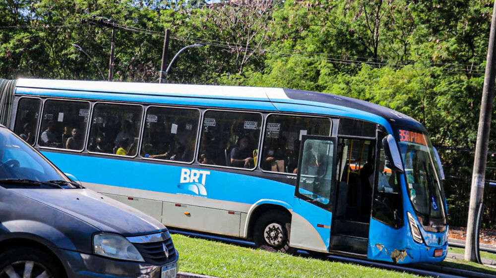
M 303 135 L 301 144 L 290 245 L 327 252 L 335 201 L 337 138 Z

